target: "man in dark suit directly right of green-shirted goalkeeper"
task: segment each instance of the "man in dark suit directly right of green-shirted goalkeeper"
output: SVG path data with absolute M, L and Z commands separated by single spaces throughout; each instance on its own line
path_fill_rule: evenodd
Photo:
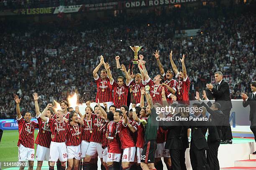
M 172 107 L 177 107 L 177 104 L 172 104 Z M 175 121 L 176 117 L 181 117 L 181 114 L 178 112 L 173 113 L 173 121 L 163 121 L 163 129 L 168 130 L 165 149 L 169 149 L 171 161 L 172 161 L 172 170 L 182 170 L 180 166 L 180 152 L 183 150 L 182 144 L 182 124 L 180 121 Z

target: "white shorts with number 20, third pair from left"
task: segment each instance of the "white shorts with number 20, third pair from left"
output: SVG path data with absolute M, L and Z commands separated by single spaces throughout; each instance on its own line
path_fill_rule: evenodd
M 65 142 L 51 142 L 50 145 L 50 157 L 51 162 L 66 162 L 67 161 L 67 147 Z

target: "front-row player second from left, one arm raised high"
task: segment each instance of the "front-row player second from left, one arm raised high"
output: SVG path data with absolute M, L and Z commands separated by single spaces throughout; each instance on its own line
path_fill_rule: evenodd
M 39 125 L 39 132 L 36 137 L 35 143 L 36 146 L 36 160 L 37 160 L 37 167 L 36 170 L 41 170 L 43 161 L 49 161 L 50 157 L 50 144 L 51 144 L 51 129 L 50 124 L 43 122 L 40 118 L 41 112 L 39 111 L 38 106 L 38 99 L 40 96 L 37 93 L 33 94 L 34 101 L 35 101 L 35 108 L 36 108 L 36 118 Z M 54 112 L 51 109 L 46 110 L 45 117 L 49 117 L 50 119 L 53 117 Z M 48 162 L 50 165 L 50 162 Z

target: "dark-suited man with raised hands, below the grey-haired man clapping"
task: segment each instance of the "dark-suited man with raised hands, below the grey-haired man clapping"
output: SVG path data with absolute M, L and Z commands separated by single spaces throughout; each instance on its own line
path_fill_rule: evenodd
M 206 108 L 208 113 L 210 113 L 209 122 L 207 124 L 207 144 L 209 147 L 209 149 L 206 150 L 207 163 L 210 170 L 219 170 L 218 149 L 220 146 L 221 127 L 224 121 L 224 114 L 220 111 L 220 104 L 217 102 L 212 104 L 207 98 L 205 91 L 203 91 L 203 98 L 208 102 L 207 104 L 202 102 L 202 106 Z M 196 99 L 201 100 L 198 92 L 196 92 Z

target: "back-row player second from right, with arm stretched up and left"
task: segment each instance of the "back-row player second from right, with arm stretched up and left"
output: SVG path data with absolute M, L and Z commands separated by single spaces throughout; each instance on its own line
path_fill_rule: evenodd
M 176 86 L 177 86 L 177 81 L 172 79 L 174 74 L 173 74 L 173 71 L 171 69 L 168 69 L 166 74 L 164 72 L 164 67 L 160 61 L 160 55 L 159 55 L 159 51 L 156 50 L 156 52 L 154 52 L 153 54 L 156 58 L 156 61 L 157 61 L 157 65 L 160 69 L 160 73 L 162 76 L 164 76 L 164 83 L 162 83 L 163 86 L 166 86 L 166 88 L 172 93 L 172 94 L 175 94 L 176 93 Z M 170 56 L 172 56 L 172 51 L 170 53 Z M 170 101 L 172 100 L 171 98 L 169 97 L 166 97 L 167 101 Z

